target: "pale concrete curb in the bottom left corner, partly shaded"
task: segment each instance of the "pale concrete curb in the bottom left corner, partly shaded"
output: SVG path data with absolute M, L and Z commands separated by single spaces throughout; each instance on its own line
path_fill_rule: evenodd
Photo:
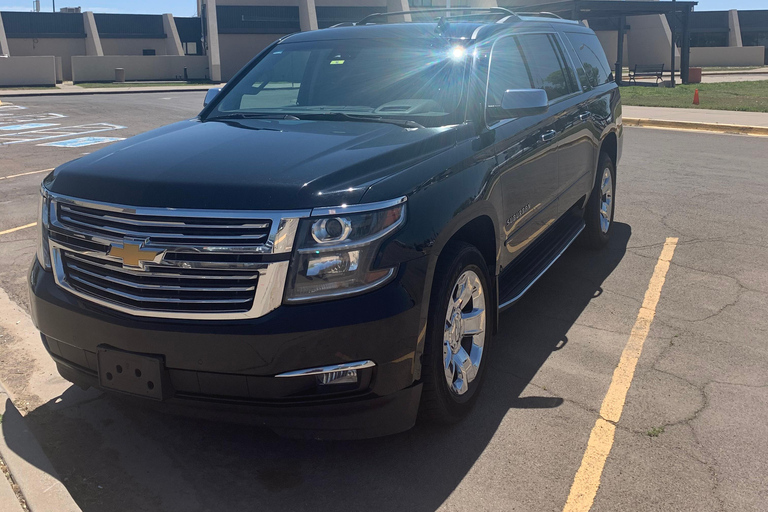
M 3 415 L 3 422 L 0 423 L 0 455 L 21 488 L 29 509 L 32 512 L 81 512 L 2 386 L 0 414 Z

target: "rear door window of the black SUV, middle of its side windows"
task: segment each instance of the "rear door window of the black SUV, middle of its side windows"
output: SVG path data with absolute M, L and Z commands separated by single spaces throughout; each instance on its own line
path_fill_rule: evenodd
M 547 91 L 550 101 L 573 92 L 571 81 L 562 67 L 560 52 L 550 36 L 522 35 L 520 44 L 531 70 L 534 88 Z

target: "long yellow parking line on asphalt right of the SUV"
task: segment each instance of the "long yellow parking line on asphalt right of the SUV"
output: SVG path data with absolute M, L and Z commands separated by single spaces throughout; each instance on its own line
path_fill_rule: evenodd
M 600 487 L 600 478 L 603 474 L 605 461 L 613 446 L 616 423 L 624 409 L 624 402 L 635 375 L 637 361 L 640 359 L 643 344 L 648 337 L 651 323 L 656 315 L 661 288 L 664 286 L 675 247 L 677 247 L 677 238 L 667 238 L 656 262 L 656 268 L 653 270 L 648 290 L 645 292 L 643 305 L 640 307 L 637 320 L 632 327 L 632 333 L 629 335 L 629 341 L 627 341 L 621 354 L 619 365 L 613 372 L 611 385 L 600 408 L 600 418 L 592 427 L 589 441 L 587 441 L 587 450 L 584 452 L 581 466 L 579 466 L 573 479 L 571 492 L 568 494 L 568 501 L 565 503 L 563 512 L 587 512 L 592 508 L 597 489 Z

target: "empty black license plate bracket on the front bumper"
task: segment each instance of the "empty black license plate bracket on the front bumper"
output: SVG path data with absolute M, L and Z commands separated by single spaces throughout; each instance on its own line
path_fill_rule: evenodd
M 165 369 L 161 356 L 98 347 L 99 383 L 106 389 L 162 400 Z

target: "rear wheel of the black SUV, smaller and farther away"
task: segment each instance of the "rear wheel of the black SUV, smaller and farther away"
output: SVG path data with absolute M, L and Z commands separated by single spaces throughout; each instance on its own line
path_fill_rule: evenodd
M 584 210 L 584 242 L 593 249 L 608 243 L 613 226 L 616 166 L 607 153 L 600 153 L 595 186 Z

